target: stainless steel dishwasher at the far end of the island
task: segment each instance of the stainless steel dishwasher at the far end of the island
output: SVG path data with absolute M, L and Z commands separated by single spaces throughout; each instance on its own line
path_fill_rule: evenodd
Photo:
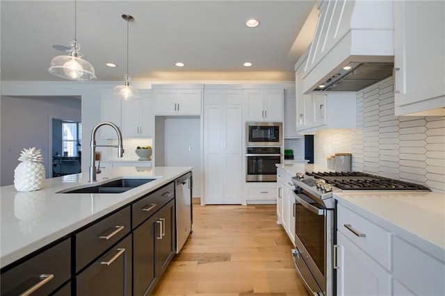
M 176 254 L 192 232 L 192 172 L 176 179 Z

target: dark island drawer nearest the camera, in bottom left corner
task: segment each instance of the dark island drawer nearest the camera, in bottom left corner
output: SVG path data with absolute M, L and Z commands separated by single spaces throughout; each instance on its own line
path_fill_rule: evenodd
M 49 295 L 71 276 L 71 240 L 50 247 L 1 274 L 1 295 L 22 295 L 40 283 L 33 296 Z

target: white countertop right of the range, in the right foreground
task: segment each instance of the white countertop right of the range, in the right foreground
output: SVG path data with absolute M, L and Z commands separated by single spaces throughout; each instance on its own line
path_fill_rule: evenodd
M 445 196 L 437 192 L 340 192 L 360 215 L 445 261 Z

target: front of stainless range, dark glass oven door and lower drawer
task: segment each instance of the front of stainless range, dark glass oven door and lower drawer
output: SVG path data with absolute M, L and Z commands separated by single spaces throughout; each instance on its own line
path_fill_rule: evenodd
M 307 195 L 293 193 L 296 199 L 296 249 L 293 261 L 298 274 L 314 295 L 332 294 L 333 211 Z

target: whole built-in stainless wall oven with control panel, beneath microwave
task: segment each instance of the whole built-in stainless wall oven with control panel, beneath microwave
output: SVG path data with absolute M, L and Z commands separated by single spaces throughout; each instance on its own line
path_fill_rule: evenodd
M 283 162 L 281 147 L 246 147 L 245 181 L 276 182 L 277 166 Z

